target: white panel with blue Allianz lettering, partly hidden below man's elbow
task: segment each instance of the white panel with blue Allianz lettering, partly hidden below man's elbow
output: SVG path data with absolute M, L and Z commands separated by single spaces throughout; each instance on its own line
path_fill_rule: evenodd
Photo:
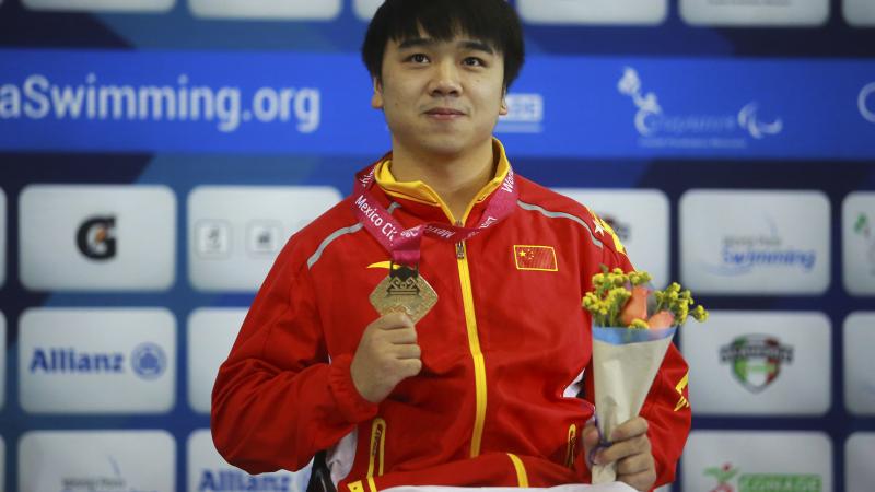
M 250 476 L 219 455 L 209 430 L 195 431 L 188 437 L 188 491 L 283 491 L 305 492 L 310 466 L 298 472 L 279 471 Z

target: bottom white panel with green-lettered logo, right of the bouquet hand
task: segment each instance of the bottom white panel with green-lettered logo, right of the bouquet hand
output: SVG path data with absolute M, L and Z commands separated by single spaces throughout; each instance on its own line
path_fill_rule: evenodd
M 685 491 L 833 490 L 832 443 L 820 432 L 693 431 L 681 467 Z

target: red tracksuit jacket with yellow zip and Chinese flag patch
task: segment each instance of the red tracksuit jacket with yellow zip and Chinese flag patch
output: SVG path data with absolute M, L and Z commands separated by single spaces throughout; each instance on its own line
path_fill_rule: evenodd
M 509 171 L 498 141 L 495 152 L 495 177 L 468 208 L 467 226 Z M 405 227 L 455 222 L 427 185 L 395 181 L 389 159 L 372 192 Z M 593 398 L 581 300 L 600 265 L 632 267 L 585 207 L 520 176 L 516 186 L 516 208 L 498 225 L 459 245 L 423 238 L 420 274 L 439 301 L 417 324 L 422 371 L 380 405 L 358 394 L 350 363 L 378 317 L 369 295 L 389 255 L 357 223 L 351 198 L 295 234 L 215 380 L 222 456 L 252 473 L 298 470 L 347 436 L 354 460 L 339 492 L 588 482 L 580 435 L 593 407 L 569 389 L 583 374 Z M 641 412 L 657 484 L 674 479 L 689 432 L 687 374 L 672 345 Z

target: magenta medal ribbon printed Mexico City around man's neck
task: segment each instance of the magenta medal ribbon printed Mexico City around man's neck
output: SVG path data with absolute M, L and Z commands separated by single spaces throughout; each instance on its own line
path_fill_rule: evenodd
M 513 168 L 508 169 L 508 176 L 498 190 L 489 199 L 483 219 L 477 227 L 460 227 L 457 225 L 428 222 L 415 227 L 404 229 L 401 224 L 374 198 L 371 189 L 376 183 L 374 173 L 376 164 L 355 175 L 353 189 L 358 191 L 352 208 L 359 222 L 371 233 L 380 244 L 392 254 L 396 263 L 416 268 L 421 255 L 422 236 L 446 243 L 459 243 L 480 234 L 485 230 L 501 222 L 513 212 L 520 190 L 514 183 Z

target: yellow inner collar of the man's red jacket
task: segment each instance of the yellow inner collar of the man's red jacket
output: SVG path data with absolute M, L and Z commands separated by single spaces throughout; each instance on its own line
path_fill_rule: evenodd
M 471 210 L 477 204 L 482 203 L 487 198 L 489 198 L 490 195 L 492 195 L 492 192 L 499 189 L 501 184 L 504 181 L 504 178 L 508 177 L 508 172 L 511 168 L 511 164 L 508 161 L 508 155 L 504 153 L 504 145 L 502 145 L 501 142 L 494 137 L 492 138 L 492 149 L 494 154 L 498 155 L 495 175 L 480 189 L 475 199 L 468 203 L 468 207 L 465 211 L 465 216 L 455 218 L 456 220 L 460 220 L 463 223 L 467 221 Z M 376 184 L 389 197 L 399 199 L 404 202 L 413 202 L 441 209 L 448 220 L 452 221 L 454 219 L 450 208 L 429 185 L 420 180 L 398 181 L 395 179 L 395 176 L 392 174 L 390 153 L 376 164 L 374 176 L 376 178 Z M 404 202 L 401 204 L 406 204 Z

